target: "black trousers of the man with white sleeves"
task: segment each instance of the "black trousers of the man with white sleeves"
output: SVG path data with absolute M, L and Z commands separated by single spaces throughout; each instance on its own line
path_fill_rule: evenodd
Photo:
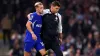
M 46 50 L 52 49 L 55 52 L 56 56 L 63 56 L 57 36 L 43 36 L 42 41 L 45 44 Z M 38 52 L 36 56 L 41 55 Z

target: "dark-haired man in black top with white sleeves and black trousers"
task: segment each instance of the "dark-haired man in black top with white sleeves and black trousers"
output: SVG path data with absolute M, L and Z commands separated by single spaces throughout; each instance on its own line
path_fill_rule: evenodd
M 63 56 L 59 45 L 62 42 L 62 23 L 61 15 L 58 13 L 59 9 L 60 3 L 54 1 L 51 3 L 50 9 L 43 11 L 41 39 L 46 50 L 52 49 L 56 56 Z M 37 52 L 36 56 L 41 56 L 41 54 Z

